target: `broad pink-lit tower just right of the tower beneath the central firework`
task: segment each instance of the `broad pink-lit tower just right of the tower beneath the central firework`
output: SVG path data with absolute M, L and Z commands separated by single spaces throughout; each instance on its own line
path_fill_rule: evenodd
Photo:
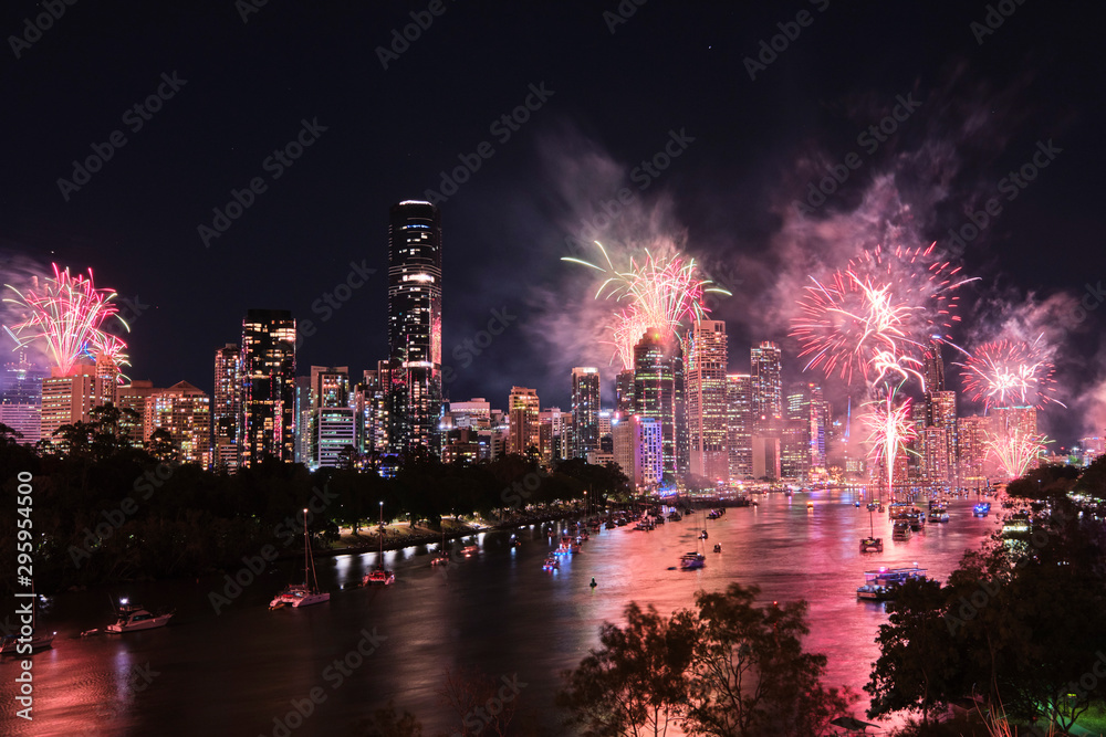
M 729 412 L 726 398 L 726 323 L 696 320 L 688 329 L 685 387 L 691 473 L 728 482 Z

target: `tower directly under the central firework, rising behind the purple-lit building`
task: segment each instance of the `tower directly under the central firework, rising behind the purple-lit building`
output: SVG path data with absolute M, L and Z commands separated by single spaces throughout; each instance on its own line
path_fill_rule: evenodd
M 671 345 L 666 345 L 659 330 L 646 330 L 634 346 L 634 414 L 660 422 L 664 472 L 669 475 L 679 472 L 676 404 Z

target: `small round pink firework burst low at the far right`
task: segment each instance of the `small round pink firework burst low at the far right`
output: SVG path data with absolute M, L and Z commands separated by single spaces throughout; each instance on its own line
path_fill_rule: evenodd
M 1035 407 L 1042 409 L 1050 402 L 1063 403 L 1055 398 L 1055 369 L 1047 360 L 1041 337 L 1033 343 L 1023 340 L 995 340 L 977 348 L 963 364 L 960 376 L 964 389 L 974 402 L 991 407 Z

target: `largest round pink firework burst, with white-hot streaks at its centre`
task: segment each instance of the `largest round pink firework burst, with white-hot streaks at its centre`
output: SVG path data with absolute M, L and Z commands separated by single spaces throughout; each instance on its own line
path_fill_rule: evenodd
M 807 358 L 805 368 L 848 383 L 884 378 L 887 370 L 920 378 L 906 366 L 917 361 L 910 355 L 931 340 L 951 340 L 949 330 L 960 320 L 956 289 L 974 281 L 960 278 L 959 267 L 939 261 L 933 245 L 877 246 L 828 281 L 812 277 L 814 285 L 805 287 L 791 330 L 802 344 L 800 356 Z

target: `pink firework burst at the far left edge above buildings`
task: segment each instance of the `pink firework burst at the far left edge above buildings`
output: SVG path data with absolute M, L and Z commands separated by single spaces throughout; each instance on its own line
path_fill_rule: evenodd
M 24 292 L 6 285 L 18 298 L 6 297 L 4 302 L 17 306 L 22 322 L 11 328 L 4 326 L 4 330 L 20 346 L 38 346 L 65 373 L 72 370 L 82 355 L 95 355 L 97 351 L 109 356 L 116 364 L 125 364 L 126 354 L 123 351 L 126 344 L 101 329 L 104 320 L 111 317 L 126 327 L 111 302 L 115 292 L 96 288 L 91 269 L 85 278 L 83 274 L 71 276 L 69 269 L 61 271 L 58 264 L 51 265 L 53 278 L 40 280 L 35 276 L 31 288 Z

